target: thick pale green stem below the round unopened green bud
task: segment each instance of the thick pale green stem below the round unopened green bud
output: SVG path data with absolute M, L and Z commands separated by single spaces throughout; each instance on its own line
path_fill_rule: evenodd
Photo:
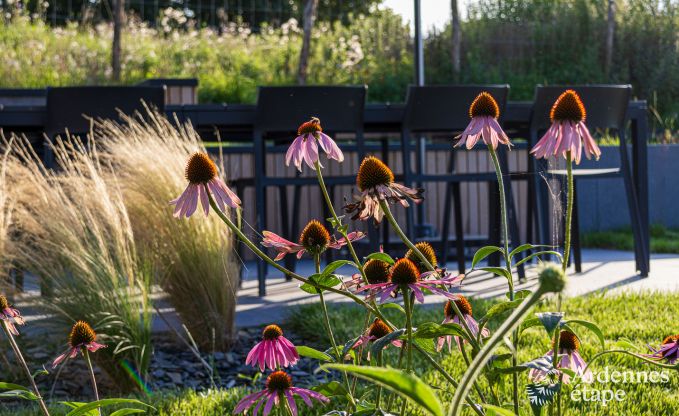
M 449 416 L 457 416 L 462 410 L 462 402 L 467 398 L 469 391 L 471 390 L 474 382 L 481 374 L 484 366 L 490 360 L 493 351 L 502 342 L 504 337 L 507 336 L 511 331 L 519 326 L 523 317 L 530 311 L 535 303 L 540 300 L 540 297 L 544 294 L 544 289 L 538 287 L 538 289 L 531 293 L 518 308 L 512 312 L 512 314 L 502 323 L 500 328 L 490 337 L 490 339 L 483 346 L 481 351 L 474 357 L 470 367 L 464 373 L 462 380 L 460 380 L 460 387 L 455 390 L 455 395 L 453 396 L 453 402 L 448 413 Z

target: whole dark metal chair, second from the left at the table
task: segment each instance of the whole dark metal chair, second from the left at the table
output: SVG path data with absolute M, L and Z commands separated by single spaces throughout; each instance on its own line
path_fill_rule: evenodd
M 353 146 L 341 146 L 343 150 L 355 150 L 359 158 L 365 154 L 363 139 L 363 109 L 366 86 L 290 86 L 260 87 L 257 98 L 257 110 L 254 124 L 255 152 L 255 198 L 257 228 L 267 228 L 266 190 L 277 187 L 281 198 L 281 228 L 287 236 L 295 235 L 299 229 L 299 207 L 301 187 L 317 183 L 316 177 L 274 177 L 266 169 L 266 155 L 285 153 L 296 136 L 296 129 L 310 117 L 321 119 L 323 131 L 333 137 L 337 133 L 352 133 L 355 137 Z M 332 163 L 332 162 L 331 162 Z M 295 169 L 290 167 L 290 169 Z M 305 169 L 309 169 L 308 167 Z M 355 183 L 355 176 L 325 177 L 331 198 L 337 185 Z M 286 187 L 294 185 L 292 223 L 289 221 L 288 194 Z M 329 217 L 323 201 L 325 218 Z M 375 239 L 376 240 L 376 239 Z M 288 256 L 290 257 L 290 256 Z M 294 259 L 290 259 L 294 262 Z M 294 267 L 294 264 L 290 264 Z M 259 293 L 266 292 L 266 265 L 258 262 Z

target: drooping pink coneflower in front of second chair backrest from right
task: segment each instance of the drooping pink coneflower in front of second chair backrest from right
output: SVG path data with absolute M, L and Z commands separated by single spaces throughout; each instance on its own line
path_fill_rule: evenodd
M 497 101 L 487 92 L 479 94 L 469 106 L 469 117 L 472 119 L 467 128 L 462 132 L 460 140 L 455 144 L 459 147 L 466 144 L 467 149 L 476 145 L 479 139 L 497 149 L 498 144 L 511 146 L 509 137 L 505 134 L 497 118 L 500 116 L 500 107 Z

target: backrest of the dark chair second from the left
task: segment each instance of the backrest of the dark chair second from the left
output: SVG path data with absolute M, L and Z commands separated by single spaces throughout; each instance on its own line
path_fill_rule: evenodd
M 255 131 L 292 132 L 318 117 L 323 130 L 362 132 L 366 89 L 365 85 L 259 87 Z

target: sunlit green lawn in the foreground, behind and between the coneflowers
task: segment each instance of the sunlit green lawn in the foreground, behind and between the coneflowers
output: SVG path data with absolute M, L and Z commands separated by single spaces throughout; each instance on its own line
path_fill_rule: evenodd
M 474 314 L 482 316 L 492 301 L 474 301 Z M 623 294 L 616 296 L 592 295 L 566 299 L 564 310 L 567 317 L 582 318 L 596 322 L 606 338 L 608 347 L 613 346 L 621 337 L 630 339 L 635 345 L 643 348 L 647 343 L 657 344 L 663 337 L 679 332 L 679 324 L 676 324 L 676 316 L 679 314 L 679 294 Z M 554 310 L 554 304 L 547 302 L 540 305 L 538 311 Z M 342 342 L 356 336 L 363 324 L 363 313 L 360 309 L 351 305 L 332 305 L 330 308 L 331 320 L 335 325 L 335 334 Z M 395 321 L 402 320 L 398 312 L 390 310 L 389 314 Z M 417 322 L 442 320 L 441 305 L 427 305 L 419 308 L 415 317 Z M 318 305 L 305 305 L 291 311 L 290 318 L 284 326 L 286 330 L 293 330 L 298 336 L 314 340 L 310 345 L 323 347 L 327 340 L 324 338 L 321 312 Z M 587 361 L 593 354 L 600 350 L 596 338 L 589 332 L 580 331 L 583 346 L 582 354 Z M 549 347 L 546 334 L 542 328 L 528 329 L 520 342 L 520 360 L 527 361 L 542 355 Z M 394 360 L 393 349 L 389 353 L 388 360 Z M 389 351 L 389 350 L 387 350 Z M 464 369 L 462 358 L 459 353 L 442 354 L 441 362 L 456 378 Z M 621 356 L 608 356 L 598 361 L 593 366 L 596 372 L 603 371 L 608 366 L 610 371 L 651 371 L 651 367 L 640 364 L 630 358 Z M 428 383 L 439 387 L 438 394 L 446 402 L 451 399 L 448 385 L 434 371 L 427 369 L 422 361 L 417 360 L 415 368 L 418 374 Z M 669 382 L 666 384 L 600 384 L 595 383 L 591 388 L 610 389 L 612 391 L 623 390 L 625 400 L 622 402 L 610 402 L 606 407 L 601 403 L 583 403 L 568 407 L 567 415 L 669 415 L 679 411 L 679 377 L 676 372 L 668 372 Z M 527 378 L 521 375 L 522 386 Z M 158 415 L 186 415 L 186 416 L 212 416 L 230 414 L 234 404 L 244 393 L 243 389 L 220 390 L 209 394 L 195 393 L 186 390 L 178 393 L 166 393 L 156 395 L 150 401 L 158 409 Z M 504 390 L 503 397 L 506 395 Z M 527 407 L 525 394 L 521 399 Z M 566 400 L 569 400 L 566 398 Z M 570 403 L 569 403 L 570 404 Z M 315 412 L 305 412 L 305 415 L 322 414 L 332 408 L 316 409 Z M 63 407 L 54 407 L 54 415 L 62 415 Z M 16 408 L 2 409 L 0 415 L 27 416 L 35 412 L 21 411 Z M 414 414 L 414 413 L 412 413 Z M 525 413 L 528 415 L 529 413 Z

